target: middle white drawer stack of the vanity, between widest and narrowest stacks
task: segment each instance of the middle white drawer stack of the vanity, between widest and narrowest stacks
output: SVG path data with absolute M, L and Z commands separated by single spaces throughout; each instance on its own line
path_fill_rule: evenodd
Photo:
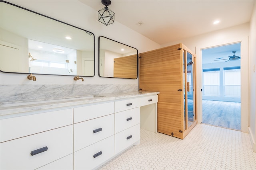
M 74 169 L 93 169 L 115 155 L 114 102 L 74 108 Z

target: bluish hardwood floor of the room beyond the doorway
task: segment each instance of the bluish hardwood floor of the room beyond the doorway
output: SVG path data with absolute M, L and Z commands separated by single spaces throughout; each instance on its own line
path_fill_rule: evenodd
M 241 103 L 203 100 L 203 122 L 208 125 L 241 130 Z

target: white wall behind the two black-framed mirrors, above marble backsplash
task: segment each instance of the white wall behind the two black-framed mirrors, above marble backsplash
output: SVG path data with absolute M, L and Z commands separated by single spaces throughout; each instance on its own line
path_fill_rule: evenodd
M 8 84 L 138 84 L 138 79 L 101 78 L 98 76 L 98 37 L 100 35 L 138 49 L 138 53 L 160 48 L 160 45 L 118 23 L 103 25 L 98 21 L 98 11 L 78 0 L 7 0 L 18 6 L 64 21 L 91 31 L 95 35 L 95 76 L 74 81 L 72 76 L 36 75 L 36 81 L 28 80 L 27 74 L 0 73 L 1 85 Z M 99 3 L 101 3 L 99 1 Z M 100 9 L 99 9 L 100 10 Z M 49 25 L 46 25 L 49 27 Z

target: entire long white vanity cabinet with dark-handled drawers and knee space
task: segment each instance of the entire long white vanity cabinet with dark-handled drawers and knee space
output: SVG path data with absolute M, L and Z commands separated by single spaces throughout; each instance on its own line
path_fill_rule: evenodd
M 1 115 L 0 169 L 96 169 L 139 145 L 140 128 L 155 132 L 157 94 Z

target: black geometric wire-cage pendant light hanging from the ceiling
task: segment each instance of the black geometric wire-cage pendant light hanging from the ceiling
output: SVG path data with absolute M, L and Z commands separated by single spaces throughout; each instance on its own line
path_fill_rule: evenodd
M 105 5 L 105 7 L 98 11 L 99 21 L 105 25 L 114 23 L 115 13 L 108 8 L 108 6 L 111 4 L 111 1 L 102 0 L 101 3 Z

